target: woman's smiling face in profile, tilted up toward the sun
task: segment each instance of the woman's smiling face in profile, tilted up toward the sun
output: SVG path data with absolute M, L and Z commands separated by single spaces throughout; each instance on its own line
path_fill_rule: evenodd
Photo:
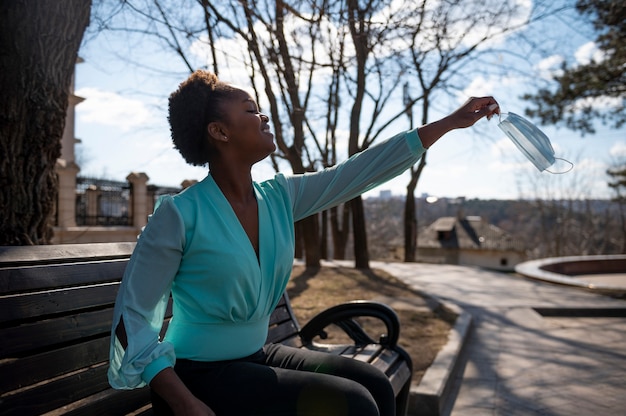
M 228 142 L 235 145 L 242 159 L 254 164 L 276 150 L 269 117 L 259 111 L 249 93 L 233 90 L 232 99 L 223 104 L 223 110 Z

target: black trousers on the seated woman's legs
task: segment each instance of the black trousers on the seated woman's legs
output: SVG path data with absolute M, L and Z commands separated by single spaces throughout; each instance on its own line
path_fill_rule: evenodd
M 393 416 L 387 376 L 370 364 L 271 344 L 233 361 L 178 360 L 175 371 L 217 416 Z M 171 415 L 152 394 L 155 415 Z

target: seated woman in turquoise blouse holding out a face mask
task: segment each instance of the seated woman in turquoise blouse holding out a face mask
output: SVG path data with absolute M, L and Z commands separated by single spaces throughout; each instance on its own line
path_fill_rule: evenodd
M 294 222 L 412 166 L 446 132 L 498 112 L 472 98 L 338 166 L 256 183 L 275 150 L 269 118 L 242 89 L 194 72 L 169 99 L 172 140 L 208 176 L 162 200 L 142 232 L 115 306 L 109 381 L 149 384 L 157 414 L 395 414 L 387 377 L 368 364 L 264 346 L 294 257 Z M 159 340 L 168 297 L 173 319 Z

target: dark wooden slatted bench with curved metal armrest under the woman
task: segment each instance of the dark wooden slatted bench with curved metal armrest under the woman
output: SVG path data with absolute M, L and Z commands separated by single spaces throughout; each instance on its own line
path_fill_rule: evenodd
M 0 247 L 0 415 L 152 414 L 147 388 L 113 390 L 106 376 L 113 304 L 133 248 L 133 243 Z M 353 319 L 359 316 L 380 319 L 387 334 L 370 339 Z M 167 322 L 166 317 L 164 330 Z M 354 343 L 317 341 L 332 323 Z M 398 332 L 395 313 L 371 302 L 338 305 L 301 328 L 285 294 L 272 314 L 268 342 L 370 362 L 390 378 L 397 414 L 403 415 L 412 369 L 410 357 L 396 345 Z

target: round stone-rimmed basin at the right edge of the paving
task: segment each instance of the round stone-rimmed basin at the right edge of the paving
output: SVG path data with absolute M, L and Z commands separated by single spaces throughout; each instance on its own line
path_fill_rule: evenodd
M 626 255 L 550 257 L 515 266 L 531 279 L 626 297 Z

